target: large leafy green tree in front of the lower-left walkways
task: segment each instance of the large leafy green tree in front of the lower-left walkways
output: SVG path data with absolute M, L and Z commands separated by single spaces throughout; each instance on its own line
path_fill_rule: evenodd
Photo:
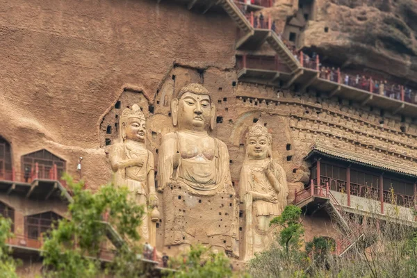
M 126 188 L 101 186 L 97 193 L 83 190 L 83 183 L 73 183 L 66 177 L 72 189 L 73 202 L 68 207 L 69 219 L 58 222 L 56 229 L 45 235 L 42 247 L 43 265 L 47 277 L 97 277 L 103 273 L 99 260 L 101 247 L 111 227 L 120 235 L 120 246 L 106 273 L 117 277 L 140 277 L 143 265 L 136 254 L 140 236 L 137 228 L 143 208 L 129 199 Z M 108 215 L 108 224 L 102 221 Z M 110 225 L 109 225 L 110 224 Z M 127 244 L 129 242 L 129 245 Z

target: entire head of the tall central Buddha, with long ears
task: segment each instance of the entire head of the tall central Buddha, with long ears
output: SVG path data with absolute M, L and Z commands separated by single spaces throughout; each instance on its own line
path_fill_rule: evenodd
M 197 83 L 190 83 L 172 99 L 172 123 L 179 129 L 208 131 L 214 129 L 215 106 L 210 93 Z

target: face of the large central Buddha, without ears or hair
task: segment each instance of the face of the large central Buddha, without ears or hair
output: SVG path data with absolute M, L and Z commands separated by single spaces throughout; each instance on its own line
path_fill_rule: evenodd
M 211 103 L 208 95 L 184 93 L 178 102 L 178 125 L 180 129 L 206 131 L 210 126 Z

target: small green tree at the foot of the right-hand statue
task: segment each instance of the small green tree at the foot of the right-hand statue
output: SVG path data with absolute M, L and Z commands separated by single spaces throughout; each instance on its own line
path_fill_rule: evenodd
M 286 252 L 293 247 L 295 250 L 300 249 L 300 236 L 304 234 L 304 228 L 300 221 L 301 208 L 294 205 L 289 205 L 284 208 L 281 215 L 272 219 L 272 224 L 279 224 L 281 231 L 279 232 L 279 243 L 285 247 Z

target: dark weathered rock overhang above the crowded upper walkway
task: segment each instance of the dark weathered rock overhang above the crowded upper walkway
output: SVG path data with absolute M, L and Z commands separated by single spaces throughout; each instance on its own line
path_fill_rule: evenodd
M 265 12 L 281 22 L 279 26 L 306 1 L 276 2 Z M 312 13 L 300 46 L 312 47 L 329 62 L 417 82 L 416 1 L 314 0 Z

